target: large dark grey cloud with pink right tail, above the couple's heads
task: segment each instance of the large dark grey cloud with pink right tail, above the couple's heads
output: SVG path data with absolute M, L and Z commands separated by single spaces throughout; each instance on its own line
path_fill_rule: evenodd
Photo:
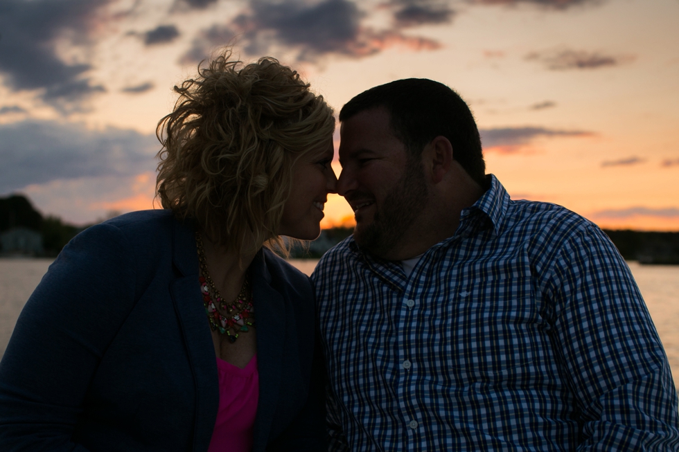
M 406 36 L 395 29 L 364 27 L 363 17 L 357 4 L 349 0 L 252 0 L 249 9 L 229 24 L 215 24 L 197 35 L 180 61 L 201 61 L 215 46 L 234 39 L 250 55 L 263 55 L 274 46 L 282 46 L 297 52 L 298 60 L 315 60 L 328 54 L 364 57 L 390 46 L 416 51 L 440 46 L 432 39 Z

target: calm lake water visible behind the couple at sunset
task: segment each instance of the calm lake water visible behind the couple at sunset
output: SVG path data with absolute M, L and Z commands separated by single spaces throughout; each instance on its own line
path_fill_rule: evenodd
M 51 264 L 49 259 L 0 259 L 0 356 L 24 303 Z M 316 260 L 293 260 L 310 275 Z M 679 388 L 679 266 L 628 262 L 642 291 Z

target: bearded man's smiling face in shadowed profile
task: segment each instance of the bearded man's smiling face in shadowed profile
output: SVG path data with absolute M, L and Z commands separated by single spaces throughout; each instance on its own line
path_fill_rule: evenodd
M 337 192 L 354 210 L 354 239 L 385 256 L 416 233 L 416 219 L 427 202 L 421 160 L 409 158 L 391 132 L 386 109 L 362 111 L 344 121 L 340 137 Z

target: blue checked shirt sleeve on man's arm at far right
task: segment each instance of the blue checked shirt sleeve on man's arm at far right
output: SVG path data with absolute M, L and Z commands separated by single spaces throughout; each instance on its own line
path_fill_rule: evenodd
M 676 389 L 630 270 L 595 226 L 565 243 L 550 278 L 560 367 L 579 451 L 679 450 Z

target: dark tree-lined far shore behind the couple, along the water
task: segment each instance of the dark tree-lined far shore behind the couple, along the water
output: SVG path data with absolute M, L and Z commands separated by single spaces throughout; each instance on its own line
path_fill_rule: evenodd
M 58 217 L 43 217 L 22 195 L 0 198 L 0 234 L 15 228 L 39 233 L 42 237 L 40 255 L 55 256 L 87 226 L 67 224 Z M 679 264 L 679 232 L 607 229 L 604 232 L 626 260 L 637 260 L 642 264 Z M 317 259 L 351 233 L 353 228 L 325 229 L 318 239 L 308 245 L 295 246 L 291 257 Z M 3 252 L 1 248 L 0 252 Z

